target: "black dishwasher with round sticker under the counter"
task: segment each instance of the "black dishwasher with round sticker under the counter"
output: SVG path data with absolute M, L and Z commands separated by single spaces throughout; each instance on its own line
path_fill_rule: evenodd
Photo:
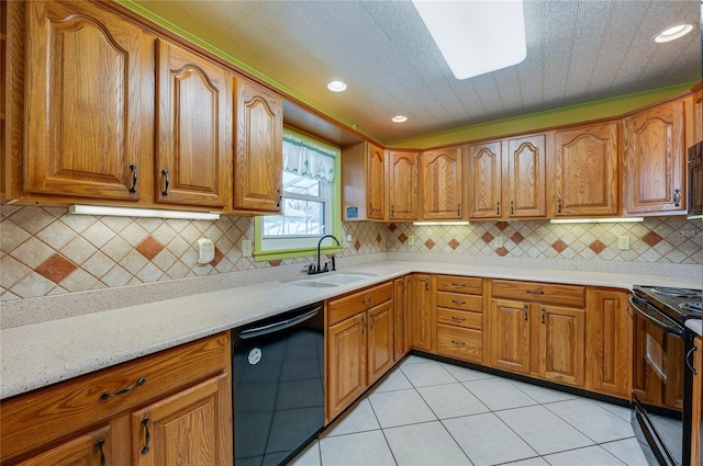
M 236 466 L 284 464 L 322 429 L 323 326 L 316 303 L 232 330 Z

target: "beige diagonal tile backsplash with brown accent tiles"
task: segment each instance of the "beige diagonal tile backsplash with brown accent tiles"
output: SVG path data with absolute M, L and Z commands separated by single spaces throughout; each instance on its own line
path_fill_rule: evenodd
M 243 257 L 242 240 L 254 239 L 252 217 L 223 216 L 215 221 L 98 217 L 70 215 L 60 207 L 9 205 L 1 206 L 0 214 L 0 300 L 4 302 L 313 260 L 256 262 Z M 703 264 L 701 224 L 682 217 L 574 225 L 345 223 L 343 229 L 352 236 L 343 258 L 409 252 Z M 617 248 L 621 236 L 629 237 L 631 249 Z M 209 264 L 198 263 L 197 241 L 203 237 L 215 243 L 215 258 Z

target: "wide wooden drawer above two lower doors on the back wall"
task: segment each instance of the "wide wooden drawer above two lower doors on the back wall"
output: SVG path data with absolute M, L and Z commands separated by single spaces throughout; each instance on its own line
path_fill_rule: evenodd
M 494 280 L 493 297 L 583 307 L 585 286 Z

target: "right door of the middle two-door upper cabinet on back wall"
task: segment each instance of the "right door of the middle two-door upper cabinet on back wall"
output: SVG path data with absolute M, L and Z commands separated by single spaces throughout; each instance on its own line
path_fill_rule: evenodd
M 509 217 L 547 215 L 545 167 L 545 135 L 507 139 Z

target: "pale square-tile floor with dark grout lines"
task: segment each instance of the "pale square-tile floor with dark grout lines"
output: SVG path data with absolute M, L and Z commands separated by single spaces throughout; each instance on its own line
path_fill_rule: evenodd
M 643 465 L 629 410 L 411 355 L 293 466 Z

